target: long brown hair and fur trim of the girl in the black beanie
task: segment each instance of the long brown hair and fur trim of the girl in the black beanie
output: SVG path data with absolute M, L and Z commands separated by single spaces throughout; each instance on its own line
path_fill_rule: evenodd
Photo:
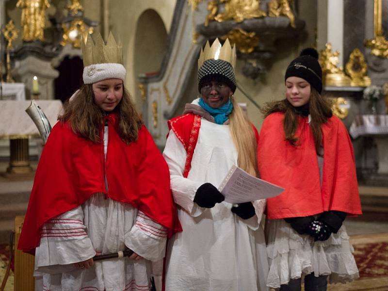
M 333 115 L 331 111 L 331 102 L 327 98 L 322 97 L 321 94 L 319 94 L 311 86 L 311 93 L 308 103 L 311 116 L 310 128 L 314 137 L 315 150 L 317 154 L 319 154 L 322 144 L 321 126 L 327 121 L 328 118 Z M 261 112 L 265 117 L 274 112 L 283 112 L 283 128 L 286 140 L 288 140 L 293 146 L 298 145 L 298 138 L 295 137 L 295 131 L 298 126 L 299 115 L 287 99 L 266 103 Z

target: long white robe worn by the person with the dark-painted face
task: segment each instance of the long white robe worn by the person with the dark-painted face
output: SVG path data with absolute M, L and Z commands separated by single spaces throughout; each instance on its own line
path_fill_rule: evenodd
M 199 186 L 209 182 L 218 187 L 237 165 L 229 126 L 201 119 L 188 178 L 183 178 L 186 151 L 172 130 L 163 156 L 183 228 L 168 242 L 166 291 L 267 290 L 268 261 L 259 224 L 265 200 L 255 201 L 256 215 L 247 220 L 232 213 L 230 203 L 207 209 L 193 202 Z

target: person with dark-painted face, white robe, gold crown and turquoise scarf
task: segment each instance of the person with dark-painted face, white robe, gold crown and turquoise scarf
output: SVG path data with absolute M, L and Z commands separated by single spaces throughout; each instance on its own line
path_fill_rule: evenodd
M 233 62 L 207 56 L 198 71 L 201 97 L 169 121 L 163 151 L 184 229 L 168 242 L 165 290 L 266 290 L 265 201 L 233 207 L 217 190 L 232 165 L 257 176 L 257 130 L 233 97 Z

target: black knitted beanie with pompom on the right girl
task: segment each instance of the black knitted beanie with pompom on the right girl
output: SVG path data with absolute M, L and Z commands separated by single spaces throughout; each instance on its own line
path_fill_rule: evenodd
M 318 52 L 315 49 L 303 49 L 300 56 L 293 60 L 287 67 L 284 81 L 289 77 L 299 77 L 322 93 L 322 68 L 318 63 Z

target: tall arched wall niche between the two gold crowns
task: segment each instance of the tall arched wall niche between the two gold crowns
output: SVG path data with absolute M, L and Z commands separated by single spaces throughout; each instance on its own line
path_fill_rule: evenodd
M 139 84 L 140 74 L 155 74 L 161 68 L 167 48 L 167 31 L 161 16 L 153 9 L 145 10 L 138 18 L 134 43 L 134 83 Z M 141 112 L 142 95 L 139 88 L 135 92 L 136 107 Z

